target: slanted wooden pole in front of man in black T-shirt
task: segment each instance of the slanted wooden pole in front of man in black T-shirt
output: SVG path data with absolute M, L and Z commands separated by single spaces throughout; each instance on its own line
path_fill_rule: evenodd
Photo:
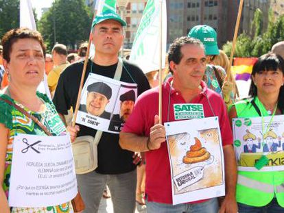
M 92 23 L 93 23 L 95 16 L 97 16 L 97 9 L 95 9 L 93 19 L 92 19 Z M 84 67 L 83 67 L 81 82 L 80 82 L 79 91 L 78 91 L 76 107 L 75 107 L 75 111 L 74 111 L 74 115 L 73 115 L 73 119 L 72 119 L 72 127 L 75 126 L 76 118 L 77 118 L 77 114 L 78 114 L 78 110 L 79 110 L 79 105 L 80 105 L 80 100 L 81 100 L 81 95 L 82 95 L 82 88 L 83 88 L 84 78 L 85 78 L 85 74 L 86 74 L 86 66 L 88 64 L 88 56 L 90 55 L 91 33 L 92 32 L 90 32 L 90 36 L 88 36 L 88 47 L 87 47 L 87 51 L 86 51 L 86 56 L 85 56 Z

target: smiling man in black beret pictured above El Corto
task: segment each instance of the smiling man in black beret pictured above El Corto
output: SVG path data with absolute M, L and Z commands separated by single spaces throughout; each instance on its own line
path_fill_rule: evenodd
M 106 112 L 106 105 L 112 95 L 110 86 L 104 82 L 95 82 L 87 87 L 86 105 L 80 105 L 80 111 L 93 116 L 110 119 L 110 112 Z

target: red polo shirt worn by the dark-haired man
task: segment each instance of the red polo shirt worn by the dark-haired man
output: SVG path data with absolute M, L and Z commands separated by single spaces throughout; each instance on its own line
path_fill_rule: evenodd
M 174 104 L 186 103 L 180 92 L 171 87 L 172 77 L 163 84 L 163 113 L 162 123 L 176 121 L 174 118 Z M 190 103 L 202 103 L 204 116 L 218 116 L 222 135 L 222 144 L 231 145 L 233 143 L 232 131 L 228 121 L 226 105 L 220 95 L 206 87 L 201 82 L 202 92 Z M 210 102 L 210 105 L 209 105 Z M 168 112 L 169 105 L 169 112 Z M 158 114 L 158 88 L 152 88 L 143 92 L 135 104 L 134 110 L 124 125 L 122 131 L 137 134 L 139 136 L 149 136 L 150 128 L 154 125 L 154 116 Z M 171 197 L 171 173 L 167 144 L 163 142 L 160 149 L 147 151 L 146 158 L 146 186 L 145 193 L 148 201 L 158 203 L 172 203 Z M 200 202 L 200 201 L 198 201 Z

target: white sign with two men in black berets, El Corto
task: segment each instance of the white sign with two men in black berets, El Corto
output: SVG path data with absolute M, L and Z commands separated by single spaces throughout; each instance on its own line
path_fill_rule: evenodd
M 90 73 L 82 90 L 76 123 L 119 134 L 137 99 L 137 84 Z

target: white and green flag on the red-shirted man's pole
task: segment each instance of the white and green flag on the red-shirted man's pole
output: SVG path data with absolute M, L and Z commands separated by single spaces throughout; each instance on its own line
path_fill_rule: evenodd
M 149 73 L 160 68 L 160 2 L 161 0 L 147 1 L 130 53 L 129 60 L 137 64 L 144 73 Z M 162 5 L 162 68 L 165 68 L 167 45 L 167 9 L 165 0 L 162 0 Z

